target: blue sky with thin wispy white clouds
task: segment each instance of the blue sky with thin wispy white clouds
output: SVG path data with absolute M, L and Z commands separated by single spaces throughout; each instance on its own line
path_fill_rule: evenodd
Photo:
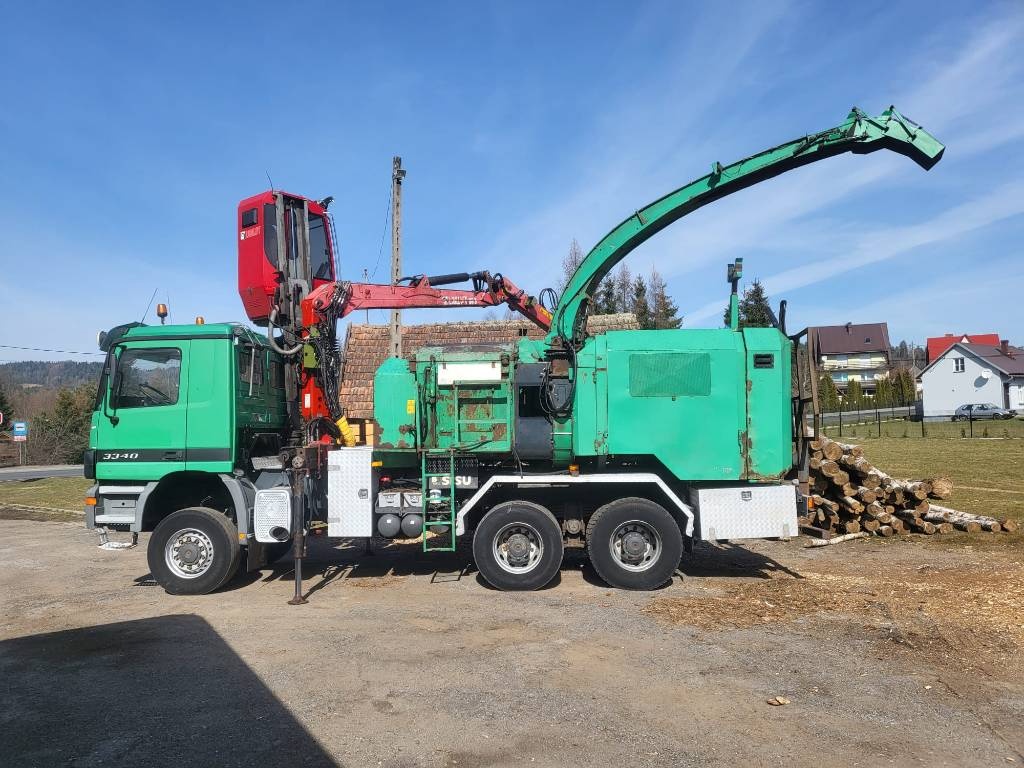
M 791 327 L 1024 343 L 1022 39 L 1019 2 L 9 4 L 0 343 L 95 349 L 154 289 L 172 321 L 243 318 L 236 207 L 267 173 L 334 195 L 343 276 L 386 280 L 401 155 L 406 271 L 537 292 L 573 238 L 588 250 L 712 162 L 890 103 L 947 144 L 932 171 L 812 165 L 626 263 L 656 266 L 689 327 L 720 324 L 742 256 Z

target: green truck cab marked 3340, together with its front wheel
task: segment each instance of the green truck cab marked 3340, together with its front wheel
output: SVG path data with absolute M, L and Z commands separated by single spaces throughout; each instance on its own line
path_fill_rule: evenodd
M 288 433 L 283 362 L 234 324 L 132 324 L 103 335 L 101 348 L 86 524 L 167 538 L 151 567 L 208 591 L 243 550 L 265 555 L 250 545 L 249 510 L 257 483 L 275 479 L 265 470 Z M 176 515 L 188 524 L 166 529 Z

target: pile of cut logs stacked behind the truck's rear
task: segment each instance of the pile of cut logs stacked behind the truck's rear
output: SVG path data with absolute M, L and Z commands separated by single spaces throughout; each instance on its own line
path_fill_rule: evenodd
M 891 537 L 905 534 L 1014 531 L 1017 523 L 959 512 L 931 499 L 950 497 L 948 477 L 900 480 L 872 465 L 860 445 L 827 437 L 812 440 L 804 532 L 823 539 L 865 531 Z

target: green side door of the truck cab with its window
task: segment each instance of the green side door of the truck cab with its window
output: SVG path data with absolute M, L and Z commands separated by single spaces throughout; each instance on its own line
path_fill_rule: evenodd
M 115 350 L 96 419 L 96 479 L 157 480 L 185 468 L 188 351 L 187 340 Z

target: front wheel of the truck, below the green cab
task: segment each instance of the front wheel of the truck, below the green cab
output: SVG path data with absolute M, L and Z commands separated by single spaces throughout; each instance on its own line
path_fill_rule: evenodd
M 181 547 L 186 551 L 181 552 Z M 168 594 L 205 595 L 234 575 L 240 552 L 238 529 L 226 515 L 207 507 L 188 507 L 160 521 L 150 537 L 146 559 Z

